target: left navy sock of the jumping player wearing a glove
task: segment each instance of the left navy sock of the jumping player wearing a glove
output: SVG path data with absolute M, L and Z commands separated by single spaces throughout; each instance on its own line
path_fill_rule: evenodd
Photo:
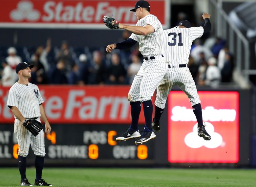
M 139 113 L 141 110 L 141 103 L 140 101 L 136 102 L 130 102 L 131 105 L 131 115 L 132 115 L 132 123 L 131 123 L 131 129 L 136 131 L 138 129 L 138 123 L 139 123 Z

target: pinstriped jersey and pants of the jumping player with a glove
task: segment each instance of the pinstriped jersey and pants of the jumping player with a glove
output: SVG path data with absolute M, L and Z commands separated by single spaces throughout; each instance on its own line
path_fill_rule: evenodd
M 162 24 L 155 15 L 148 14 L 141 18 L 136 26 L 145 27 L 148 24 L 154 27 L 155 32 L 148 35 L 132 33 L 130 36 L 139 42 L 139 51 L 144 56 L 142 66 L 128 93 L 128 100 L 131 102 L 151 100 L 156 87 L 168 71 L 167 63 L 162 56 Z M 148 60 L 145 60 L 145 57 Z

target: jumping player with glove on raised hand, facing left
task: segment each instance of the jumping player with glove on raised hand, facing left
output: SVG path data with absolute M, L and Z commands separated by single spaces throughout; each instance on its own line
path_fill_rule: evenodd
M 131 11 L 134 11 L 138 18 L 136 26 L 123 25 L 113 18 L 111 20 L 107 16 L 103 17 L 103 22 L 111 29 L 119 28 L 132 32 L 129 39 L 117 44 L 108 45 L 106 48 L 107 52 L 111 52 L 115 48 L 127 49 L 139 42 L 139 51 L 144 57 L 143 64 L 135 76 L 128 93 L 132 114 L 131 126 L 123 135 L 116 138 L 116 140 L 122 141 L 139 137 L 135 141 L 135 144 L 139 144 L 156 137 L 151 126 L 153 113 L 151 97 L 161 79 L 167 73 L 168 66 L 162 55 L 162 25 L 156 16 L 149 13 L 149 3 L 140 0 Z M 141 102 L 144 110 L 145 127 L 140 135 L 138 121 Z

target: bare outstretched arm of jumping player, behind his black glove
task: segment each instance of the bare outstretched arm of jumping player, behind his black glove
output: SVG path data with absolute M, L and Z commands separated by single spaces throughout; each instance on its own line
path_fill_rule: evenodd
M 151 25 L 141 27 L 141 26 L 124 25 L 124 24 L 119 23 L 119 29 L 124 29 L 126 31 L 130 31 L 137 35 L 148 35 L 152 32 L 155 32 L 154 27 L 152 27 Z

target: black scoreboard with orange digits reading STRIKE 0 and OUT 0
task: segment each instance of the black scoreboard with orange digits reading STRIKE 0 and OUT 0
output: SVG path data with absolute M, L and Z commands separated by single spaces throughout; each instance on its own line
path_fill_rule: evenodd
M 117 135 L 122 135 L 127 130 L 126 125 L 53 124 L 51 126 L 52 132 L 45 134 L 46 164 L 49 162 L 54 165 L 56 160 L 57 163 L 62 161 L 76 163 L 77 159 L 81 165 L 97 163 L 108 165 L 115 160 L 123 160 L 122 163 L 133 163 L 133 161 L 137 163 L 138 160 L 153 162 L 154 141 L 139 145 L 135 145 L 135 139 L 116 141 Z M 13 125 L 0 125 L 0 163 L 12 163 L 17 157 L 18 144 L 13 133 Z M 31 148 L 27 158 L 28 162 L 34 160 Z M 91 162 L 91 160 L 98 161 Z

